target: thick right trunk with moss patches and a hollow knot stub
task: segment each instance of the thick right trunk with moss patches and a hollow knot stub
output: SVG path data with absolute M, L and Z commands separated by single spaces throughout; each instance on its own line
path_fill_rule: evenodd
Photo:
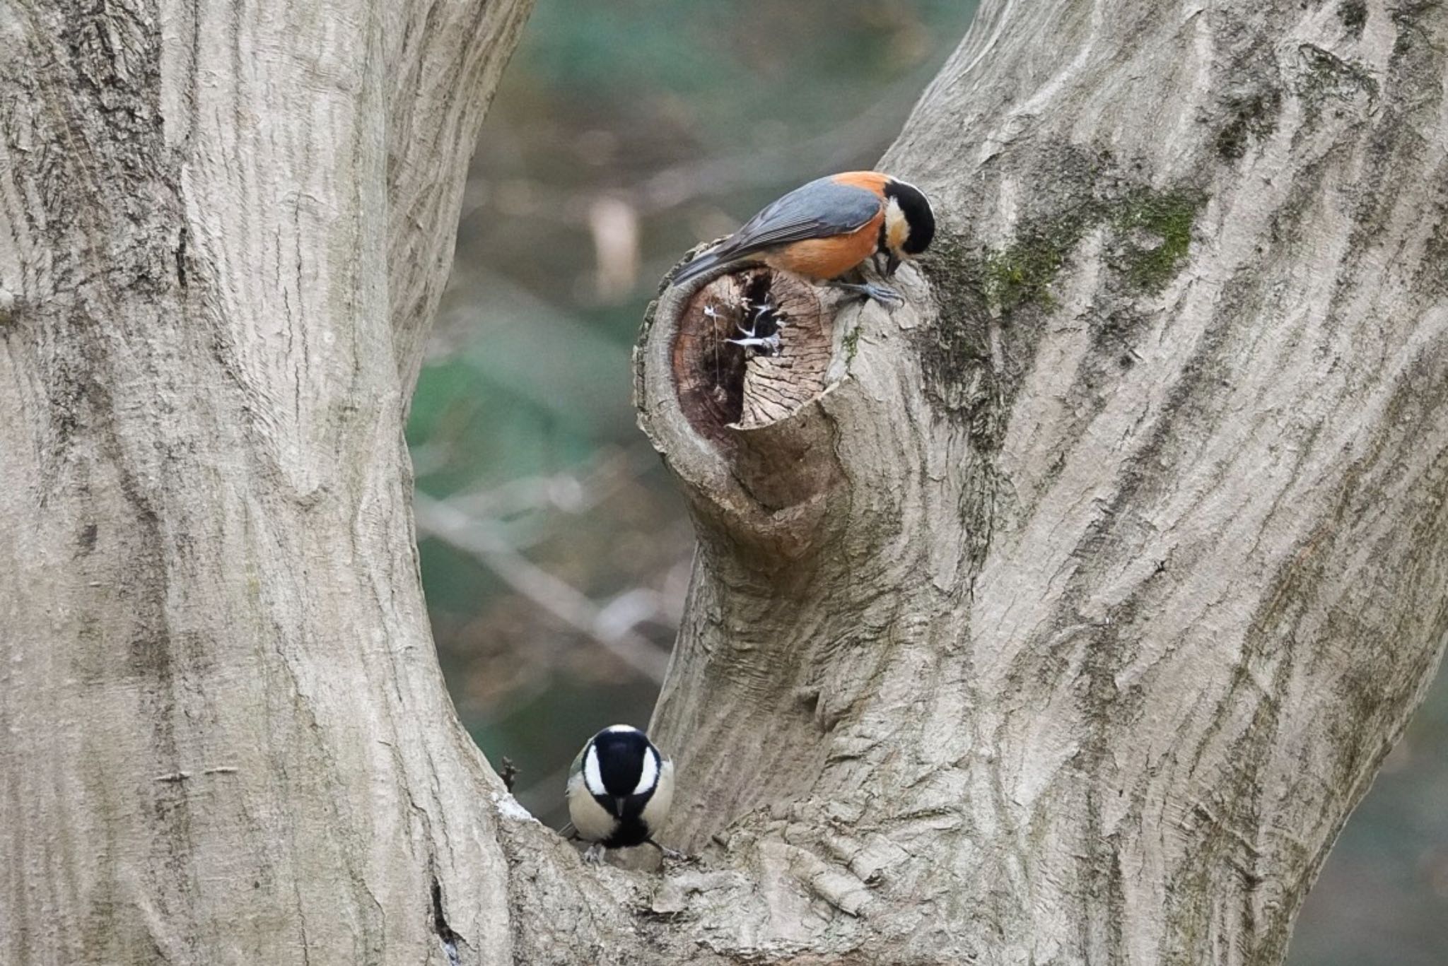
M 791 317 L 717 410 L 675 335 L 728 293 L 663 294 L 672 837 L 834 907 L 756 943 L 1281 960 L 1448 630 L 1445 49 L 1426 3 L 988 3 L 882 162 L 946 222 L 908 308 Z M 828 388 L 723 426 L 791 333 Z

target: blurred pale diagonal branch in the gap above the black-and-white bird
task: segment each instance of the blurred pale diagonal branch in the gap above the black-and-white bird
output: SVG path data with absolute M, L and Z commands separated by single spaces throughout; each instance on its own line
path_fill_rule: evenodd
M 602 611 L 594 601 L 524 558 L 481 521 L 424 494 L 416 494 L 413 513 L 417 517 L 418 530 L 424 534 L 468 552 L 514 591 L 585 634 L 654 684 L 663 682 L 663 672 L 669 663 L 669 655 L 665 650 L 631 630 L 607 633 L 604 630 L 607 623 L 601 620 Z

